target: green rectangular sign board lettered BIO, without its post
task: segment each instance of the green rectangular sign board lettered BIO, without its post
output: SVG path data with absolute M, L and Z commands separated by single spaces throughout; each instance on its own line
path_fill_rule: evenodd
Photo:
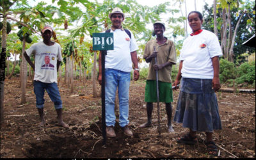
M 113 50 L 114 35 L 113 33 L 92 33 L 93 51 Z

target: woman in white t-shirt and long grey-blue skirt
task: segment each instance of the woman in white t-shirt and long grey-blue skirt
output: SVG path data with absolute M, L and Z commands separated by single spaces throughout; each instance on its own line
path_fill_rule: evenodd
M 208 154 L 216 156 L 218 150 L 212 133 L 221 129 L 221 120 L 214 92 L 220 90 L 219 57 L 222 52 L 217 36 L 202 29 L 200 12 L 190 12 L 188 21 L 193 33 L 184 40 L 179 72 L 173 86 L 180 83 L 174 121 L 189 128 L 189 133 L 177 142 L 193 145 L 197 142 L 196 132 L 204 131 Z

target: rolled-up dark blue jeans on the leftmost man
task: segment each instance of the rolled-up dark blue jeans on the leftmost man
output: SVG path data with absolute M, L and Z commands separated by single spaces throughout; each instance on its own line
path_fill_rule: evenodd
M 34 92 L 36 95 L 36 108 L 44 108 L 44 92 L 47 91 L 55 109 L 62 108 L 62 101 L 57 83 L 42 83 L 34 81 Z

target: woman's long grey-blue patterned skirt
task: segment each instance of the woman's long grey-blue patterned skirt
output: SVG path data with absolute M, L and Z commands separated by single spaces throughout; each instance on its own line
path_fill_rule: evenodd
M 212 79 L 182 78 L 177 108 L 173 119 L 192 131 L 213 132 L 221 129 L 216 94 Z

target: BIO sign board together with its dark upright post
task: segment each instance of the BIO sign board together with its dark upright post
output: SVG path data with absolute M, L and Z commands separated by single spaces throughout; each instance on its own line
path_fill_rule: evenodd
M 108 50 L 114 49 L 113 33 L 93 33 L 93 51 L 101 51 L 101 115 L 102 145 L 106 145 L 106 111 L 105 111 L 105 56 Z

